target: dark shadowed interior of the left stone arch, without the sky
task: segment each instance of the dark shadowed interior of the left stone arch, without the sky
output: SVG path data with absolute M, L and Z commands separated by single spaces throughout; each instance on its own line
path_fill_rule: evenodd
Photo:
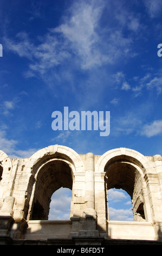
M 59 188 L 73 188 L 73 174 L 66 160 L 46 160 L 38 170 L 30 220 L 48 220 L 51 196 Z M 64 204 L 64 200 L 60 202 Z

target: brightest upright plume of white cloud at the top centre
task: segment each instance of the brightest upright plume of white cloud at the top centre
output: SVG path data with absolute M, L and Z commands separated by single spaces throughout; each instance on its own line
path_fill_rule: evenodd
M 68 41 L 73 53 L 80 58 L 82 69 L 100 66 L 108 60 L 99 47 L 98 29 L 103 5 L 102 1 L 93 1 L 90 4 L 75 3 L 70 8 L 70 15 L 64 18 L 62 25 L 53 30 L 61 33 Z

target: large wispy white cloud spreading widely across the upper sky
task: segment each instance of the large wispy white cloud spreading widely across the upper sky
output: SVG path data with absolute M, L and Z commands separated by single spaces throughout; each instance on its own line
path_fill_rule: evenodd
M 48 29 L 48 33 L 35 39 L 29 38 L 26 32 L 18 33 L 14 40 L 6 36 L 5 48 L 29 59 L 29 69 L 24 73 L 26 77 L 40 76 L 44 80 L 49 77 L 49 71 L 56 76 L 54 68 L 60 64 L 66 65 L 66 69 L 76 69 L 77 66 L 79 69 L 89 70 L 114 64 L 123 56 L 132 57 L 133 38 L 124 36 L 121 25 L 115 25 L 115 28 L 101 26 L 105 9 L 110 14 L 107 19 L 109 25 L 118 16 L 111 4 L 107 8 L 107 2 L 102 0 L 74 2 L 64 11 L 59 26 Z M 128 13 L 124 10 L 125 12 Z M 131 17 L 132 23 L 129 22 L 129 26 L 132 31 L 136 31 L 139 22 L 137 18 Z M 126 24 L 124 22 L 122 26 L 125 27 Z

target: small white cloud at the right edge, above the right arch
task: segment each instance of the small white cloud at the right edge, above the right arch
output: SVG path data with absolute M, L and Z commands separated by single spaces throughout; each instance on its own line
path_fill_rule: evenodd
M 141 135 L 148 138 L 162 134 L 162 120 L 154 120 L 152 124 L 145 124 L 142 128 Z

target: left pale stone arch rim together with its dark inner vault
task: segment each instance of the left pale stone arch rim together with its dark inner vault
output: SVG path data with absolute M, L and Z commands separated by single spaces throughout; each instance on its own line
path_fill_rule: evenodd
M 80 156 L 72 149 L 52 145 L 30 157 L 31 176 L 28 185 L 28 220 L 47 220 L 50 198 L 60 187 L 72 190 L 76 172 L 85 167 Z

